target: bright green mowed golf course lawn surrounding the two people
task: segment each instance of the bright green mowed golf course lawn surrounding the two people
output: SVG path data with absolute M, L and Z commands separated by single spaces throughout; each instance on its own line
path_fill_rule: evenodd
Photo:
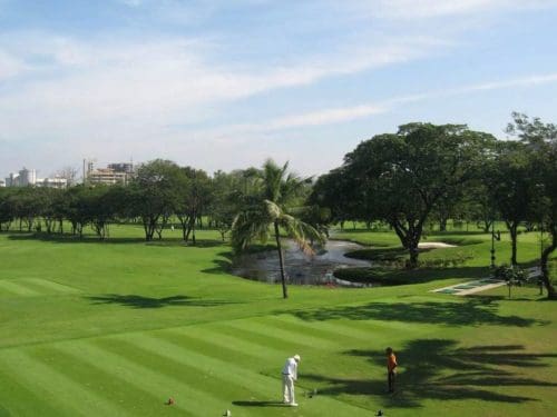
M 429 240 L 470 245 L 423 257 L 469 252 L 458 268 L 397 287 L 291 286 L 287 300 L 231 276 L 216 231 L 201 231 L 197 248 L 178 231 L 145 244 L 134 226 L 113 227 L 106 242 L 0 234 L 0 416 L 553 415 L 557 305 L 528 287 L 510 300 L 506 288 L 429 292 L 489 262 L 488 236 L 451 234 Z M 343 237 L 397 245 L 389 232 Z M 497 245 L 508 257 L 508 241 Z M 539 241 L 519 245 L 532 262 Z M 395 396 L 384 394 L 387 346 L 400 363 Z M 291 409 L 276 401 L 295 353 Z

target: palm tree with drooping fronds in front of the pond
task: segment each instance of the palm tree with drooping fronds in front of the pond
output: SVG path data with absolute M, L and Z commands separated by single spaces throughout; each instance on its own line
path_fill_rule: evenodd
M 305 254 L 313 255 L 310 240 L 323 241 L 323 235 L 293 215 L 296 202 L 303 195 L 307 180 L 287 173 L 289 162 L 283 167 L 268 159 L 260 171 L 260 190 L 251 203 L 236 216 L 232 227 L 232 246 L 236 251 L 247 248 L 253 239 L 265 241 L 274 235 L 281 268 L 282 292 L 289 298 L 284 274 L 284 257 L 281 230 L 293 239 Z

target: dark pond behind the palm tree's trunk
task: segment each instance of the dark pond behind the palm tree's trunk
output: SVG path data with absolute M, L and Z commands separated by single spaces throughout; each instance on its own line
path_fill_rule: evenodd
M 346 267 L 369 267 L 367 260 L 346 258 L 344 254 L 364 248 L 361 245 L 329 240 L 314 256 L 306 256 L 294 241 L 284 241 L 284 265 L 289 284 L 299 285 L 338 285 L 346 287 L 365 287 L 367 285 L 349 282 L 333 277 L 333 271 Z M 232 272 L 243 278 L 264 282 L 281 282 L 281 269 L 276 250 L 258 254 L 246 254 L 236 258 Z

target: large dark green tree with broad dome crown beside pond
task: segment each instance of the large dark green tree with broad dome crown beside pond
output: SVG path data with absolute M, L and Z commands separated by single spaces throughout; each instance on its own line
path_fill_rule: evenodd
M 354 202 L 394 229 L 413 268 L 428 216 L 475 178 L 494 142 L 463 125 L 409 123 L 361 142 L 344 157 L 343 171 L 358 190 Z

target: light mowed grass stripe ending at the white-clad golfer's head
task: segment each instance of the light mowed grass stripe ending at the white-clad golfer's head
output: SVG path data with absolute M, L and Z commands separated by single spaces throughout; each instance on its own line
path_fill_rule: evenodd
M 248 355 L 253 358 L 266 359 L 270 356 L 282 356 L 283 351 L 268 345 L 256 344 L 238 337 L 238 334 L 226 325 L 217 324 L 203 327 L 174 328 L 165 330 L 174 334 L 195 337 L 211 346 L 218 346 L 224 350 Z M 163 332 L 164 335 L 164 332 Z

